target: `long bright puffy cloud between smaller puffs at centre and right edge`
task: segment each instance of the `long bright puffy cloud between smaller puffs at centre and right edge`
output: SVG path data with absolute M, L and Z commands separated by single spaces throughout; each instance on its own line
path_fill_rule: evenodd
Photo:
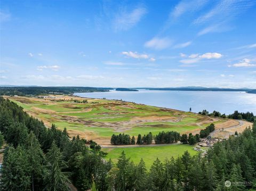
M 204 59 L 220 59 L 222 57 L 222 54 L 220 53 L 205 53 L 205 54 L 190 54 L 189 59 L 183 59 L 180 60 L 181 63 L 183 64 L 192 64 L 192 63 L 196 63 L 200 60 L 204 60 Z

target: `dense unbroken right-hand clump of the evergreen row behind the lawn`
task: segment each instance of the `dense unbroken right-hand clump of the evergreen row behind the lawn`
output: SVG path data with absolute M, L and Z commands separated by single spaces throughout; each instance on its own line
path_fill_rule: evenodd
M 159 132 L 158 135 L 155 136 L 156 144 L 168 144 L 168 143 L 177 143 L 180 140 L 180 134 L 176 131 L 167 131 L 167 132 Z

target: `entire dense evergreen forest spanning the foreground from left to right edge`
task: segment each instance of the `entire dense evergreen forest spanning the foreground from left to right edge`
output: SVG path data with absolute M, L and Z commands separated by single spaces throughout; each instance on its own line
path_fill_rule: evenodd
M 204 156 L 185 152 L 177 159 L 156 159 L 147 169 L 143 159 L 134 164 L 124 152 L 116 164 L 104 160 L 106 153 L 97 143 L 70 138 L 66 129 L 54 125 L 46 128 L 8 99 L 0 97 L 0 106 L 0 130 L 7 143 L 1 190 L 68 190 L 70 184 L 99 191 L 256 188 L 256 122 L 214 144 Z

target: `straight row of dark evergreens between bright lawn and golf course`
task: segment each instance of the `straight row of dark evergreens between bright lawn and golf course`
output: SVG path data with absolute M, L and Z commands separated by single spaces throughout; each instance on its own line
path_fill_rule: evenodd
M 169 143 L 177 143 L 180 140 L 180 134 L 176 131 L 167 131 L 167 132 L 159 132 L 159 134 L 153 136 L 151 132 L 143 137 L 141 134 L 138 135 L 137 141 L 135 142 L 135 137 L 127 134 L 113 134 L 110 140 L 112 145 L 150 145 L 153 140 L 155 140 L 155 144 L 169 144 Z

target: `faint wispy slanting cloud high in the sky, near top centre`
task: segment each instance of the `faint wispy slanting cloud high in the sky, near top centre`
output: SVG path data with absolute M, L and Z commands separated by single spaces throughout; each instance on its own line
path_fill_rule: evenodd
M 143 15 L 147 13 L 144 7 L 138 7 L 132 12 L 121 11 L 114 20 L 115 31 L 128 30 L 137 24 Z

